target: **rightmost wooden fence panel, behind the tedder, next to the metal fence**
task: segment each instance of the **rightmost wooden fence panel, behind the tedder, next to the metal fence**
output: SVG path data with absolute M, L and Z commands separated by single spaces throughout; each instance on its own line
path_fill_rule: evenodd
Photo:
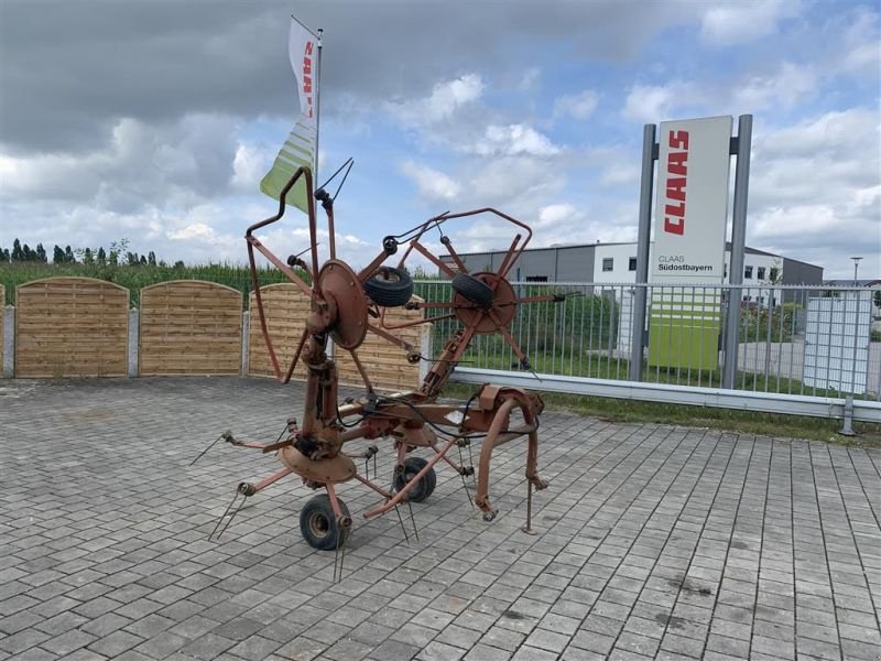
M 389 325 L 402 324 L 422 318 L 420 310 L 404 310 L 403 307 L 389 307 L 385 310 L 385 323 Z M 373 325 L 379 325 L 379 319 L 370 319 Z M 420 349 L 422 330 L 424 326 L 410 326 L 398 330 L 389 330 Z M 383 339 L 379 335 L 368 332 L 363 344 L 356 350 L 358 359 L 370 378 L 371 383 L 381 390 L 415 390 L 420 386 L 420 366 L 406 361 L 406 353 L 399 346 Z M 351 354 L 345 349 L 336 351 L 339 382 L 350 386 L 363 386 L 363 379 L 358 372 Z

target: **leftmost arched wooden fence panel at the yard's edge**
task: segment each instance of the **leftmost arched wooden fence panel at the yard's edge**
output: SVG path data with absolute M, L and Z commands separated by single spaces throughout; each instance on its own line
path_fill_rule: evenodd
M 129 290 L 94 278 L 15 289 L 17 377 L 124 377 Z

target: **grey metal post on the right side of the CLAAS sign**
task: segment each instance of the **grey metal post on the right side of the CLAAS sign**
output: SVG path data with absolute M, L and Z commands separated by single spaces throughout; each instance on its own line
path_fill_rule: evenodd
M 752 115 L 741 115 L 737 127 L 737 170 L 735 204 L 731 210 L 731 268 L 728 270 L 728 303 L 725 324 L 722 388 L 733 389 L 737 380 L 737 349 L 740 340 L 740 297 L 743 284 L 743 251 L 747 243 L 747 198 L 750 187 L 750 144 Z

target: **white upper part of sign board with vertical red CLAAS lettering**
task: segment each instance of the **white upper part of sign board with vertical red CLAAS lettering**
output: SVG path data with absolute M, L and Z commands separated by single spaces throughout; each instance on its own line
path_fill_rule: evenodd
M 653 282 L 721 282 L 733 119 L 661 123 Z

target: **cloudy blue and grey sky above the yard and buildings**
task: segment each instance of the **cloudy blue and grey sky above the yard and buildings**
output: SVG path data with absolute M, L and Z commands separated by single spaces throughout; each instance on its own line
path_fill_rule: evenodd
M 747 245 L 881 278 L 879 7 L 0 0 L 0 247 L 243 263 L 298 112 L 293 12 L 324 30 L 319 180 L 355 159 L 336 202 L 354 264 L 485 206 L 535 247 L 635 240 L 643 126 L 751 113 Z M 306 226 L 294 209 L 262 238 L 285 257 Z M 449 235 L 510 241 L 483 220 Z

